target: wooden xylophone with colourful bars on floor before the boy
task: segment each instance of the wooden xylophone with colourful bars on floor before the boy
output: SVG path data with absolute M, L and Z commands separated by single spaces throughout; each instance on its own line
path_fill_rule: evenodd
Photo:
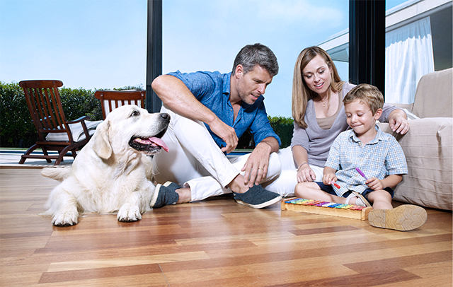
M 282 200 L 282 210 L 355 218 L 362 221 L 368 220 L 368 213 L 372 209 L 372 207 L 336 204 L 334 202 L 318 201 L 314 199 L 293 198 Z

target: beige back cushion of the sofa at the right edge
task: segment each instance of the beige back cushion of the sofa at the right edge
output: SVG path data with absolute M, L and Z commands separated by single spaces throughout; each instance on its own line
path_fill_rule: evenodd
M 418 117 L 453 117 L 453 68 L 420 78 L 412 112 Z

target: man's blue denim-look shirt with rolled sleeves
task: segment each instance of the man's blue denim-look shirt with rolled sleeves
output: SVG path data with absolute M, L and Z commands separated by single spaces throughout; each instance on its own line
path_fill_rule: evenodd
M 212 110 L 222 122 L 234 128 L 238 138 L 242 136 L 247 128 L 250 128 L 256 144 L 269 136 L 277 139 L 279 145 L 282 144 L 280 138 L 270 127 L 264 107 L 263 95 L 260 95 L 253 105 L 247 105 L 242 102 L 241 109 L 233 122 L 234 111 L 229 101 L 231 72 L 221 74 L 218 71 L 197 71 L 195 73 L 182 74 L 180 71 L 176 71 L 168 75 L 175 76 L 183 81 L 197 100 Z M 214 134 L 207 124 L 205 126 L 219 147 L 226 146 L 226 143 L 217 134 Z

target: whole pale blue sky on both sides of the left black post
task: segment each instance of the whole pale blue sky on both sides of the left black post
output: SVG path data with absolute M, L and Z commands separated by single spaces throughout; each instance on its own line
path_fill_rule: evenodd
M 404 0 L 387 0 L 386 9 Z M 268 115 L 291 117 L 294 62 L 348 28 L 349 0 L 163 0 L 163 73 L 232 69 L 247 44 L 277 56 Z M 146 86 L 147 0 L 0 0 L 0 81 L 67 88 Z M 348 64 L 336 63 L 348 78 Z

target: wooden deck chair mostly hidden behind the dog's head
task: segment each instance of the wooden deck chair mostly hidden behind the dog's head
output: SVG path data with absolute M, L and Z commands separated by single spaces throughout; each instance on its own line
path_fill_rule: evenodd
M 145 90 L 97 90 L 95 98 L 101 100 L 103 118 L 122 105 L 138 105 L 144 109 Z

